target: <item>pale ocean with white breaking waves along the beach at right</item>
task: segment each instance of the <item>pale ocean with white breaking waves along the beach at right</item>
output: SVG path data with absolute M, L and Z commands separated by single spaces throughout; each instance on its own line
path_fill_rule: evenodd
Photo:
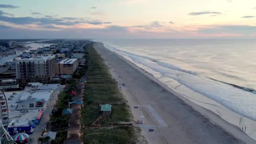
M 256 139 L 256 40 L 94 40 Z

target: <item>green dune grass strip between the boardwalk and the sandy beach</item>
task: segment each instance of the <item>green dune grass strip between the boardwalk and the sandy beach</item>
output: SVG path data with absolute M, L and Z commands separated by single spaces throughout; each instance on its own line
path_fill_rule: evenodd
M 85 48 L 85 59 L 91 61 L 91 72 L 85 86 L 85 104 L 124 102 L 115 79 L 104 64 L 104 59 L 93 48 L 93 43 Z M 98 82 L 98 83 L 93 83 Z M 81 124 L 92 124 L 100 116 L 100 107 L 85 107 L 81 111 Z M 112 105 L 111 117 L 103 123 L 122 123 L 131 121 L 128 105 Z M 84 132 L 86 144 L 133 144 L 135 129 L 133 127 L 92 128 Z

